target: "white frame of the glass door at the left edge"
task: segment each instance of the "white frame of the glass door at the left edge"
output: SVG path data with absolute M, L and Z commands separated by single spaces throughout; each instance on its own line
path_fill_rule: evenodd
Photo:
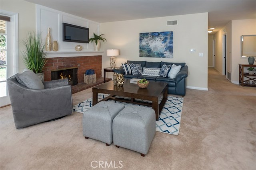
M 7 29 L 7 70 L 6 79 L 10 78 L 14 74 L 18 73 L 19 68 L 19 41 L 18 41 L 18 13 L 9 12 L 6 10 L 1 10 L 0 15 L 10 17 L 10 22 L 6 23 L 8 25 Z M 12 56 L 12 57 L 10 57 Z M 9 67 L 8 67 L 9 65 Z M 11 67 L 10 67 L 11 66 Z M 6 82 L 6 96 L 0 98 L 0 107 L 8 106 L 10 104 L 10 98 L 7 90 Z

